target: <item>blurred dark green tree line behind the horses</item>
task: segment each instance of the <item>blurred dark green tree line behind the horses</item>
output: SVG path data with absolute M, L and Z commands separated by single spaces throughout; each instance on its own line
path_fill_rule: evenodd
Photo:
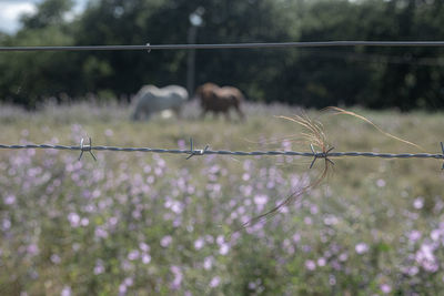
M 441 0 L 46 0 L 0 45 L 330 40 L 444 40 Z M 194 14 L 193 14 L 194 13 Z M 195 22 L 195 20 L 193 20 Z M 194 23 L 196 24 L 196 23 Z M 240 88 L 251 101 L 311 108 L 444 108 L 442 48 L 195 51 L 195 84 Z M 0 100 L 34 108 L 48 98 L 129 100 L 143 84 L 186 84 L 186 50 L 2 52 Z

